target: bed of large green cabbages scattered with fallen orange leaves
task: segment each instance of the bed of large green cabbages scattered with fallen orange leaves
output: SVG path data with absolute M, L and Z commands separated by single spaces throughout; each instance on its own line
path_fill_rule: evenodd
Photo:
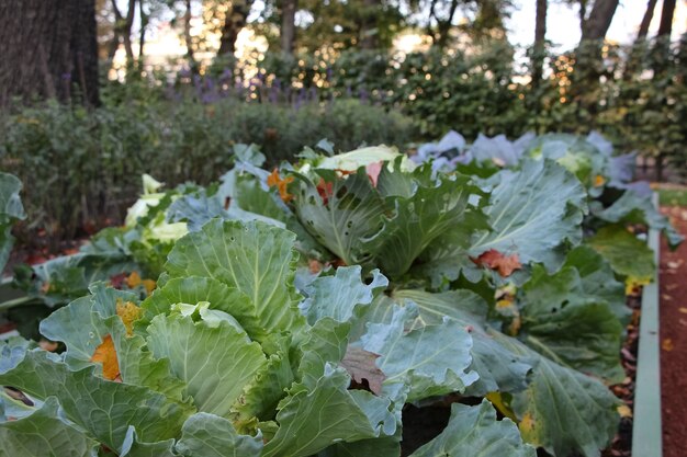
M 126 227 L 20 271 L 66 351 L 2 346 L 25 400 L 1 397 L 10 446 L 49 429 L 78 455 L 391 457 L 405 405 L 443 402 L 409 455 L 599 455 L 626 292 L 654 275 L 629 229 L 679 241 L 607 145 L 453 135 L 419 164 L 320 146 L 275 170 L 239 149 L 209 187 L 146 179 Z

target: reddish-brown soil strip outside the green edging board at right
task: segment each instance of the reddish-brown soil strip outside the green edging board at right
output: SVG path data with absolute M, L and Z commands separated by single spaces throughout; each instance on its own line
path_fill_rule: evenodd
M 687 209 L 662 208 L 687 238 Z M 687 242 L 661 242 L 661 404 L 663 455 L 684 457 L 687 442 Z

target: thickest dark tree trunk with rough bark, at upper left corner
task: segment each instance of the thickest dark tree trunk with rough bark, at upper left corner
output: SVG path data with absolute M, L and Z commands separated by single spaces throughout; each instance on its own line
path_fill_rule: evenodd
M 0 105 L 11 98 L 99 102 L 93 0 L 0 1 Z

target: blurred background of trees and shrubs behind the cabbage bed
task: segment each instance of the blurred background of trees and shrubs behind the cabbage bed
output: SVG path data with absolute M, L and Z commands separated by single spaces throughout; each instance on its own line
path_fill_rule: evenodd
M 649 1 L 622 46 L 605 39 L 618 0 L 567 0 L 582 38 L 566 52 L 547 41 L 547 0 L 528 48 L 508 39 L 510 0 L 69 1 L 94 12 L 97 99 L 78 61 L 55 96 L 0 68 L 0 169 L 25 183 L 24 242 L 121 221 L 144 172 L 169 186 L 215 180 L 241 142 L 277 164 L 323 138 L 412 150 L 449 129 L 597 129 L 658 179 L 687 174 L 687 35 L 671 42 L 672 0 Z

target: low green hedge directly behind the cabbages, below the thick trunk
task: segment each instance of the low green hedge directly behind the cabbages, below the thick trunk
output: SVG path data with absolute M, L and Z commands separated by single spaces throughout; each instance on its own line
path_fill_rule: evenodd
M 49 102 L 0 118 L 0 169 L 24 183 L 24 236 L 43 229 L 58 242 L 81 228 L 122 220 L 143 172 L 165 176 L 168 185 L 216 180 L 232 165 L 235 144 L 259 145 L 275 164 L 323 138 L 348 150 L 365 142 L 403 145 L 414 136 L 406 117 L 357 100 L 296 108 L 148 92 L 149 100 L 106 100 L 93 111 Z

